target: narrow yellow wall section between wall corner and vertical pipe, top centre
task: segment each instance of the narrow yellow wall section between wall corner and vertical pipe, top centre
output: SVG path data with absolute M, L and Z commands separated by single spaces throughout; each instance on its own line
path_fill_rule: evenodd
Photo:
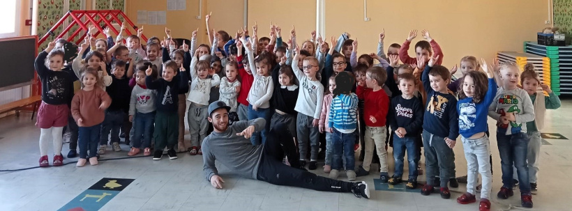
M 248 28 L 252 35 L 252 26 L 258 23 L 258 38 L 269 36 L 270 22 L 282 28 L 284 42 L 290 38 L 292 25 L 296 26 L 296 42 L 310 38 L 310 32 L 316 30 L 316 1 L 313 0 L 249 0 Z

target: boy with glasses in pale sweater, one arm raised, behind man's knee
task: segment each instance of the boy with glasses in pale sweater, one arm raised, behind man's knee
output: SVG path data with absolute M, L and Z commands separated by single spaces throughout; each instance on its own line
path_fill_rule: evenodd
M 316 169 L 319 149 L 319 115 L 322 112 L 321 107 L 317 105 L 321 105 L 322 100 L 324 100 L 324 86 L 316 78 L 316 73 L 318 72 L 317 59 L 313 56 L 304 58 L 304 71 L 302 71 L 298 68 L 300 49 L 296 48 L 295 53 L 292 61 L 292 70 L 294 70 L 294 75 L 300 81 L 298 100 L 296 101 L 296 107 L 294 107 L 294 110 L 299 112 L 296 120 L 296 132 L 298 133 L 297 139 L 301 155 L 300 165 L 306 166 L 306 159 L 303 157 L 308 151 L 306 144 L 310 141 L 311 155 L 308 169 Z

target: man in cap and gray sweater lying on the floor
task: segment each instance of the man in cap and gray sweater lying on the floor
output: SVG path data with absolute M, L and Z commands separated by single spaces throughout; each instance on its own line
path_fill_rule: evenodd
M 292 134 L 282 123 L 271 128 L 266 143 L 254 146 L 250 136 L 253 132 L 262 131 L 266 120 L 257 118 L 238 121 L 229 127 L 229 109 L 221 101 L 209 105 L 209 122 L 213 123 L 214 131 L 206 136 L 201 148 L 204 175 L 213 187 L 222 189 L 225 182 L 218 175 L 215 166 L 217 160 L 245 178 L 273 185 L 303 187 L 322 192 L 352 192 L 358 198 L 370 198 L 366 182 L 332 180 L 301 169 Z M 288 157 L 291 166 L 283 164 L 284 155 Z

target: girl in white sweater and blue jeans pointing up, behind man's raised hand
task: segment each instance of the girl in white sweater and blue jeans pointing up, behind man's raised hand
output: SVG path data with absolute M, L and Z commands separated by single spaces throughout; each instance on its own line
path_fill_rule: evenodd
M 250 70 L 256 70 L 253 74 L 253 86 L 250 87 L 248 97 L 246 98 L 246 100 L 248 100 L 248 119 L 264 118 L 267 120 L 264 130 L 259 133 L 255 132 L 253 136 L 250 137 L 250 141 L 256 145 L 266 142 L 266 133 L 270 130 L 270 123 L 268 121 L 270 119 L 270 98 L 274 90 L 274 83 L 272 77 L 269 75 L 271 59 L 268 53 L 263 52 L 258 55 L 255 60 L 254 51 L 250 42 L 246 40 L 243 42 L 246 42 L 246 53 L 248 54 L 248 60 L 251 61 Z

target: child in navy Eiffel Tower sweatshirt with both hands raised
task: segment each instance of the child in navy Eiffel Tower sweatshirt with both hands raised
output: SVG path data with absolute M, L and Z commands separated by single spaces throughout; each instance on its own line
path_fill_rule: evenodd
M 167 155 L 170 159 L 176 159 L 174 146 L 179 137 L 179 89 L 188 86 L 188 78 L 184 73 L 186 70 L 180 68 L 181 77 L 176 78 L 177 65 L 174 61 L 167 61 L 163 64 L 163 77 L 153 79 L 151 74 L 153 70 L 147 68 L 145 70 L 145 85 L 149 89 L 157 90 L 156 111 L 155 116 L 155 152 L 153 159 L 159 160 L 163 157 L 163 148 L 167 146 Z

